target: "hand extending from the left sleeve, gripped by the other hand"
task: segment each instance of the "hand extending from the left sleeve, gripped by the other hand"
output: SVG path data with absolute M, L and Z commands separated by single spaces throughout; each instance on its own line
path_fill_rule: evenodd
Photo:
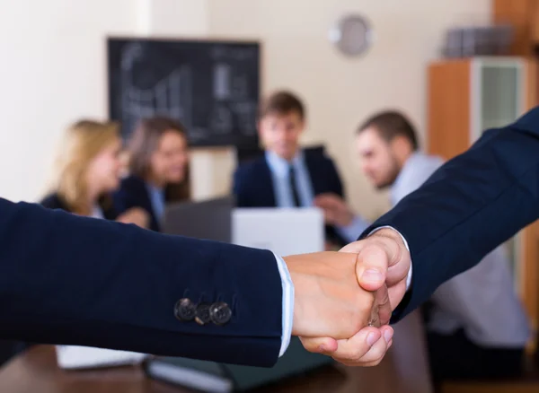
M 330 251 L 284 258 L 295 288 L 294 336 L 346 339 L 371 320 L 388 323 L 387 292 L 384 287 L 376 293 L 359 287 L 357 258 Z

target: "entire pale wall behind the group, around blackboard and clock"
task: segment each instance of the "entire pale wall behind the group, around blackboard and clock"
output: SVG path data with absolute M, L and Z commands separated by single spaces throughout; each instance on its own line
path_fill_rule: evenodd
M 366 14 L 376 30 L 364 58 L 341 57 L 328 42 L 332 23 L 347 12 Z M 305 99 L 305 142 L 328 146 L 352 204 L 376 214 L 385 199 L 356 169 L 354 128 L 372 111 L 396 107 L 424 133 L 425 68 L 437 57 L 444 31 L 489 14 L 490 0 L 10 2 L 0 13 L 0 195 L 40 197 L 66 125 L 106 116 L 107 35 L 207 36 L 261 39 L 264 91 L 287 87 Z M 195 163 L 199 194 L 227 187 L 234 165 L 229 153 L 195 154 Z

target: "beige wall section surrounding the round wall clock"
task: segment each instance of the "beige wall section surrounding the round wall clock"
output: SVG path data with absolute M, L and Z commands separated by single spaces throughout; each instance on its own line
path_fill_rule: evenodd
M 346 181 L 349 201 L 376 215 L 386 198 L 356 165 L 355 127 L 373 111 L 404 110 L 425 134 L 426 66 L 438 56 L 447 27 L 484 22 L 490 0 L 209 0 L 212 36 L 261 39 L 264 90 L 298 92 L 308 106 L 305 142 L 323 142 Z M 240 11 L 241 10 L 241 11 Z M 376 42 L 366 57 L 340 56 L 328 31 L 342 14 L 372 22 Z

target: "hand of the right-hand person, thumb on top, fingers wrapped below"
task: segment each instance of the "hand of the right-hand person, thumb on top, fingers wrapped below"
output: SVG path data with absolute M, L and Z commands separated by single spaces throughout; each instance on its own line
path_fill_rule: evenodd
M 358 283 L 363 288 L 376 291 L 384 289 L 386 285 L 393 309 L 402 301 L 406 292 L 411 257 L 396 231 L 376 231 L 367 239 L 350 243 L 341 251 L 358 253 L 356 274 Z M 384 324 L 384 320 L 381 323 Z M 381 337 L 383 339 L 380 339 Z M 335 342 L 334 339 L 325 337 L 302 342 L 312 352 L 331 355 L 333 359 L 346 365 L 372 366 L 382 361 L 387 349 L 393 344 L 393 329 L 389 326 L 377 330 L 365 327 L 349 340 Z

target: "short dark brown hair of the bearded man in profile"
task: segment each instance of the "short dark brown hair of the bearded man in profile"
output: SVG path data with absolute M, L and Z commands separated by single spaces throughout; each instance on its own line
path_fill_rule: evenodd
M 418 150 L 418 136 L 411 121 L 398 110 L 384 110 L 376 113 L 358 128 L 358 134 L 367 128 L 373 127 L 384 141 L 391 142 L 396 136 L 408 139 L 413 150 Z

